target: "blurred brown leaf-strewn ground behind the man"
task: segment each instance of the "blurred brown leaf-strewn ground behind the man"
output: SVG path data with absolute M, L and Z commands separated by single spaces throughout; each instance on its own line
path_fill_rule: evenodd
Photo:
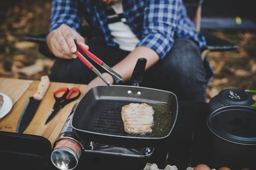
M 48 31 L 50 0 L 18 0 L 14 4 L 0 12 L 0 77 L 38 80 L 49 74 L 54 60 L 40 54 L 38 44 L 25 41 L 24 36 Z M 240 48 L 208 54 L 215 71 L 207 88 L 208 101 L 226 88 L 256 90 L 256 33 L 213 33 L 240 45 Z

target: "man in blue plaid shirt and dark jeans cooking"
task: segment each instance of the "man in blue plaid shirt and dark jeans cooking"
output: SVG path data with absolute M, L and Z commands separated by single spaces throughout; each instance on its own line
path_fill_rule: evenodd
M 82 14 L 93 28 L 86 42 L 80 35 Z M 206 42 L 182 0 L 52 0 L 47 45 L 60 59 L 50 80 L 88 84 L 88 89 L 104 85 L 76 58 L 74 39 L 122 75 L 123 82 L 131 78 L 137 59 L 145 58 L 143 86 L 171 91 L 182 100 L 206 100 L 200 51 Z M 116 84 L 111 74 L 103 75 Z

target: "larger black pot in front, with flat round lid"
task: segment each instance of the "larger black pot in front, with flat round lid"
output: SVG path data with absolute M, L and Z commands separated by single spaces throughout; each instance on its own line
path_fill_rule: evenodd
M 207 118 L 211 162 L 215 168 L 256 170 L 256 108 L 233 105 Z

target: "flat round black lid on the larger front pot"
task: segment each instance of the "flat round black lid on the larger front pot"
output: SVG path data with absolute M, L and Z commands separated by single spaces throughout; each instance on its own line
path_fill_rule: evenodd
M 224 106 L 210 114 L 209 129 L 215 135 L 240 144 L 256 144 L 256 108 Z

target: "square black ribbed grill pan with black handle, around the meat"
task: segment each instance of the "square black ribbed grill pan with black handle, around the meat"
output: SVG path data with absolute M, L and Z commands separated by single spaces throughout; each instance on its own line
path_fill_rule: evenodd
M 133 81 L 134 85 L 142 81 L 144 70 L 145 59 L 139 59 L 132 76 L 138 80 Z M 130 103 L 147 103 L 153 107 L 152 133 L 125 132 L 121 109 Z M 79 101 L 72 126 L 81 139 L 126 147 L 155 147 L 168 141 L 176 119 L 177 97 L 171 92 L 137 86 L 96 86 Z

